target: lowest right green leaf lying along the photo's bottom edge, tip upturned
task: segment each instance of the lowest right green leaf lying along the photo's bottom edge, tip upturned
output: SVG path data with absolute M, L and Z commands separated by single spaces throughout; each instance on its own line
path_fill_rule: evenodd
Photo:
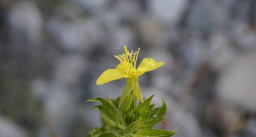
M 176 133 L 176 129 L 172 131 L 167 130 L 155 130 L 155 129 L 141 129 L 135 133 L 136 137 L 169 137 Z

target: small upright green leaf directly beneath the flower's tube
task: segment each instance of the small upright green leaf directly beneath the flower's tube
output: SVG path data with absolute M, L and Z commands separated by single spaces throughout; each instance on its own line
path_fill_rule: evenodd
M 135 97 L 133 95 L 129 95 L 123 100 L 123 103 L 119 106 L 119 110 L 122 112 L 130 111 L 134 108 L 134 100 Z

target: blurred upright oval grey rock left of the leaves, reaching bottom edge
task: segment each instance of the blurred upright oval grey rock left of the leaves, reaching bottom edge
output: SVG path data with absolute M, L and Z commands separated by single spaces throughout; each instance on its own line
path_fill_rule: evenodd
M 70 120 L 75 117 L 76 107 L 72 93 L 64 85 L 53 83 L 49 86 L 50 93 L 43 100 L 45 117 L 59 136 L 67 136 L 70 132 Z

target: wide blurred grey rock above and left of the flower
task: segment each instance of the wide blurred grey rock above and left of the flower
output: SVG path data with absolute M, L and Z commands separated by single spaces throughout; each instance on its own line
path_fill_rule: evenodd
M 93 44 L 104 43 L 107 38 L 97 19 L 78 18 L 70 21 L 53 17 L 47 23 L 47 29 L 64 49 L 76 52 L 89 52 Z

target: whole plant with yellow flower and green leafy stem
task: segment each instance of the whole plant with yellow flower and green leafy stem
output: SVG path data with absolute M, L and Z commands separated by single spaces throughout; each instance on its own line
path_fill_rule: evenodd
M 153 58 L 144 58 L 136 69 L 136 52 L 128 51 L 124 46 L 124 53 L 116 55 L 120 64 L 115 69 L 108 69 L 99 76 L 96 84 L 101 85 L 120 78 L 126 78 L 126 85 L 123 93 L 117 99 L 105 100 L 102 97 L 89 99 L 89 102 L 98 102 L 99 105 L 93 107 L 101 113 L 103 126 L 95 128 L 87 136 L 90 137 L 146 137 L 146 136 L 172 136 L 176 129 L 172 131 L 152 129 L 156 124 L 164 120 L 167 111 L 166 103 L 160 108 L 154 108 L 151 104 L 154 97 L 152 95 L 143 100 L 139 87 L 138 78 L 146 72 L 158 69 L 164 62 L 157 62 Z M 139 103 L 137 103 L 139 100 Z

